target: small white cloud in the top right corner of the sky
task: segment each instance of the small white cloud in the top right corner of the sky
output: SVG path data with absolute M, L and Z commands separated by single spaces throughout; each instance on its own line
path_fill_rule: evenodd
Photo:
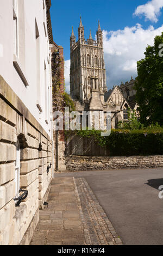
M 150 20 L 152 22 L 158 21 L 158 16 L 160 15 L 160 10 L 163 7 L 163 0 L 152 0 L 146 4 L 139 5 L 134 15 L 135 16 L 145 16 L 145 20 Z

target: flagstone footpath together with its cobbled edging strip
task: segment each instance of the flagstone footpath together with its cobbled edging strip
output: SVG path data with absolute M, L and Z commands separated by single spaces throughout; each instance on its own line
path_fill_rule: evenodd
M 52 180 L 30 245 L 122 245 L 84 178 Z

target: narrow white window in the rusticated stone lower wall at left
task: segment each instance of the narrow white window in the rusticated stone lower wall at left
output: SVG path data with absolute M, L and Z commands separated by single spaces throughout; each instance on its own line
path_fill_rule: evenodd
M 20 145 L 16 143 L 16 162 L 15 162 L 15 198 L 19 196 L 20 191 Z M 17 203 L 15 201 L 15 203 Z

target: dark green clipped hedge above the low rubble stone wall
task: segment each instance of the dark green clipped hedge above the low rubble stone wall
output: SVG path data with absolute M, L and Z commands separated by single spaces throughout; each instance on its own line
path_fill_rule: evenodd
M 110 156 L 162 155 L 163 129 L 159 130 L 111 130 L 111 135 L 101 137 L 101 131 L 76 131 L 82 137 L 91 137 L 101 147 L 110 151 Z M 67 135 L 68 136 L 68 133 Z

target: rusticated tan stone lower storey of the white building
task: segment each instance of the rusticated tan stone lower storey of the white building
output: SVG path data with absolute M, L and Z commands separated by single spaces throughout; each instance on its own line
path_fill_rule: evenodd
M 20 145 L 20 188 L 28 190 L 19 207 L 13 200 L 16 143 Z M 30 242 L 51 184 L 50 163 L 48 134 L 0 76 L 0 245 Z

